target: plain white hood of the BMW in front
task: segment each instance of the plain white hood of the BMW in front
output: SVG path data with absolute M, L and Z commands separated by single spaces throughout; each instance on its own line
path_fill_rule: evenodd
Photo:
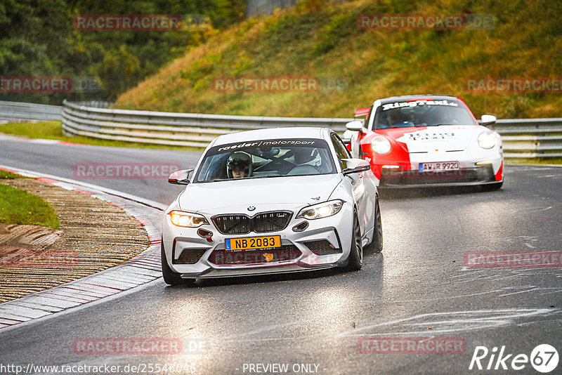
M 260 212 L 272 205 L 288 209 L 328 200 L 340 182 L 341 177 L 334 173 L 194 183 L 185 187 L 178 204 L 182 211 L 195 213 L 250 213 L 249 206 Z

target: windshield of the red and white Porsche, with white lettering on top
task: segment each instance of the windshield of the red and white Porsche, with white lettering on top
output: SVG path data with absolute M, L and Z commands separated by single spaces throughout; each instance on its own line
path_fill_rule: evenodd
M 373 129 L 410 126 L 478 125 L 466 107 L 454 100 L 410 100 L 377 108 Z

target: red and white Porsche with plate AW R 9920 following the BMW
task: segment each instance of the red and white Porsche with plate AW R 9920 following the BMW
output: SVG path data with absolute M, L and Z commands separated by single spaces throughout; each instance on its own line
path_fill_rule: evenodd
M 356 110 L 363 121 L 351 121 L 353 157 L 372 165 L 381 187 L 483 185 L 502 187 L 502 140 L 482 125 L 464 102 L 452 96 L 395 96 Z

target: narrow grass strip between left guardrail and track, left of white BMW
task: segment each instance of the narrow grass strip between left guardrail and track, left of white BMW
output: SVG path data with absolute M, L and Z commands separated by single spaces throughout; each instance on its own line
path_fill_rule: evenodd
M 199 150 L 197 147 L 181 147 L 166 145 L 146 145 L 144 143 L 129 143 L 120 140 L 103 140 L 88 138 L 84 136 L 69 137 L 63 133 L 61 121 L 46 122 L 18 122 L 10 124 L 0 124 L 0 133 L 22 136 L 27 138 L 42 138 L 63 140 L 65 142 L 81 143 L 84 145 L 110 146 L 110 147 L 133 147 L 133 148 L 153 148 L 165 150 Z

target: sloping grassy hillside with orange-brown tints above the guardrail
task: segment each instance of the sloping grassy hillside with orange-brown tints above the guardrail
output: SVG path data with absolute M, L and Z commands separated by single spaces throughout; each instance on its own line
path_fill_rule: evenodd
M 492 14 L 492 29 L 358 28 L 358 15 Z M 286 117 L 353 117 L 377 98 L 459 96 L 474 114 L 562 117 L 560 93 L 471 91 L 468 79 L 559 77 L 561 1 L 309 0 L 218 33 L 123 93 L 134 110 Z M 218 92 L 218 77 L 332 77 L 341 90 Z

